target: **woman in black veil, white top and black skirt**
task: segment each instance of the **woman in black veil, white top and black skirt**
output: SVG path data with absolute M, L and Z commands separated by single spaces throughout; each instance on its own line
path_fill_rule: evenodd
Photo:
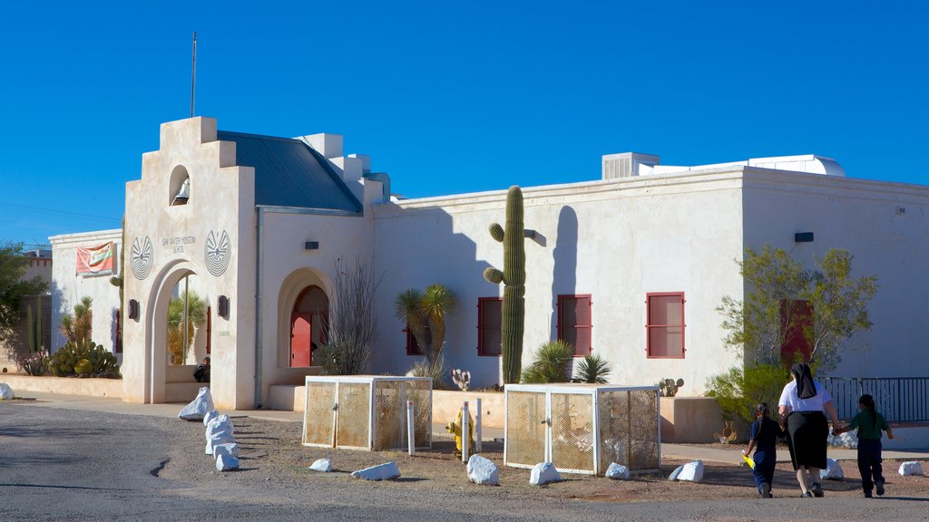
M 839 419 L 829 392 L 813 380 L 808 365 L 802 362 L 794 364 L 791 377 L 792 381 L 780 393 L 778 411 L 787 431 L 788 449 L 791 450 L 791 462 L 803 492 L 801 496 L 821 497 L 819 470 L 826 467 L 826 441 L 829 437 L 825 413 L 829 413 L 832 425 L 838 425 Z

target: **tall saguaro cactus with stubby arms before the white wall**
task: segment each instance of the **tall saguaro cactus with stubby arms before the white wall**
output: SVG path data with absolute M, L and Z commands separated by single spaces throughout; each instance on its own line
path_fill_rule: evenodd
M 484 279 L 504 283 L 501 330 L 504 351 L 504 383 L 518 383 L 522 372 L 522 336 L 526 317 L 526 230 L 523 228 L 522 190 L 506 191 L 506 228 L 491 225 L 491 237 L 504 243 L 504 271 L 484 270 Z

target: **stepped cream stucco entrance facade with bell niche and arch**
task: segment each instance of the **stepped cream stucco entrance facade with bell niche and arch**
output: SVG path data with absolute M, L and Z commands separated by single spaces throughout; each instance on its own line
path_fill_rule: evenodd
M 190 201 L 172 206 L 178 166 L 190 176 Z M 163 124 L 161 148 L 142 157 L 142 178 L 126 184 L 126 243 L 152 247 L 150 274 L 127 268 L 125 299 L 139 302 L 138 320 L 124 327 L 124 400 L 163 402 L 167 302 L 185 274 L 197 274 L 213 307 L 211 391 L 217 408 L 243 409 L 255 398 L 255 170 L 235 166 L 235 144 L 216 141 L 216 120 Z M 219 276 L 206 268 L 213 233 L 229 237 L 229 265 Z M 179 239 L 178 241 L 176 241 Z M 131 250 L 130 250 L 131 252 Z M 127 261 L 128 264 L 128 261 Z M 229 297 L 229 319 L 216 315 L 218 295 Z

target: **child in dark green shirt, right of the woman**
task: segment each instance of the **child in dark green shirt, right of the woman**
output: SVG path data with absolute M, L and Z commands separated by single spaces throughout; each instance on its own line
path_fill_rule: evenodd
M 871 498 L 871 489 L 877 489 L 878 496 L 883 495 L 883 466 L 881 463 L 881 432 L 887 432 L 887 438 L 894 438 L 894 430 L 890 424 L 878 413 L 874 406 L 874 398 L 868 394 L 858 399 L 858 410 L 861 410 L 847 426 L 832 430 L 840 435 L 853 429 L 858 430 L 858 473 L 861 474 L 861 489 L 865 497 Z

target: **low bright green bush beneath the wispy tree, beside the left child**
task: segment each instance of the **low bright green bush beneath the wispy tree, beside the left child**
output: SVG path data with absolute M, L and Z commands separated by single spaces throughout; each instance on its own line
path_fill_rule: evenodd
M 754 422 L 759 402 L 766 402 L 771 408 L 771 418 L 777 420 L 780 392 L 790 379 L 790 373 L 780 365 L 759 364 L 744 370 L 734 367 L 710 377 L 706 395 L 719 403 L 724 420 L 740 422 L 745 427 Z

